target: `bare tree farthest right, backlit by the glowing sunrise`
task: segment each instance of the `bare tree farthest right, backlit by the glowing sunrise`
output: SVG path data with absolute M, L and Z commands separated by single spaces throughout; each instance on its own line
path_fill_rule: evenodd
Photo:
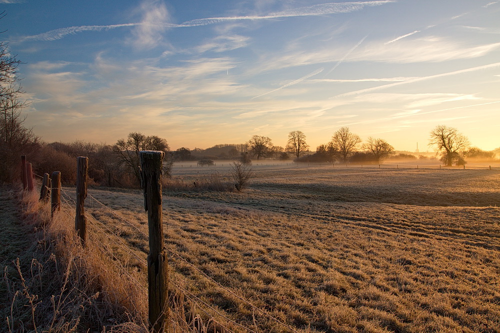
M 436 146 L 436 153 L 441 155 L 441 161 L 446 166 L 451 166 L 453 162 L 464 162 L 463 154 L 460 153 L 470 143 L 456 128 L 438 125 L 430 131 L 429 146 L 432 145 Z

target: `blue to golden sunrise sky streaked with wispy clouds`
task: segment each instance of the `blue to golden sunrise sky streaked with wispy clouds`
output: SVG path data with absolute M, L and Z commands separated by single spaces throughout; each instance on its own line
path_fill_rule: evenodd
M 430 150 L 437 125 L 500 147 L 500 1 L 0 0 L 45 142 L 311 150 L 341 127 Z

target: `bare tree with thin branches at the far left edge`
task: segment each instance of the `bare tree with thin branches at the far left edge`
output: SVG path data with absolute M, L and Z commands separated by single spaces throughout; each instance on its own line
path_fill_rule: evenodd
M 3 16 L 5 12 L 0 13 L 0 19 Z M 30 158 L 40 148 L 39 138 L 24 127 L 26 117 L 21 110 L 26 101 L 20 98 L 24 91 L 17 76 L 21 61 L 7 46 L 0 42 L 0 182 L 15 179 L 20 155 Z

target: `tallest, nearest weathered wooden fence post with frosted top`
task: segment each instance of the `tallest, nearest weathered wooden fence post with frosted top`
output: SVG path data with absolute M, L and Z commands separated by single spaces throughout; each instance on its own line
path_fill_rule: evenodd
M 168 261 L 163 245 L 161 219 L 162 151 L 139 152 L 144 209 L 147 212 L 149 254 L 147 256 L 147 291 L 149 330 L 163 333 L 168 321 Z

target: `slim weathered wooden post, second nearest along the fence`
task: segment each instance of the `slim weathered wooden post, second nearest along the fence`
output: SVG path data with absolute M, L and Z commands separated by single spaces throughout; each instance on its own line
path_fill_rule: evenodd
M 74 216 L 74 229 L 80 237 L 81 244 L 85 246 L 87 220 L 83 202 L 87 197 L 88 158 L 76 157 L 76 214 Z

